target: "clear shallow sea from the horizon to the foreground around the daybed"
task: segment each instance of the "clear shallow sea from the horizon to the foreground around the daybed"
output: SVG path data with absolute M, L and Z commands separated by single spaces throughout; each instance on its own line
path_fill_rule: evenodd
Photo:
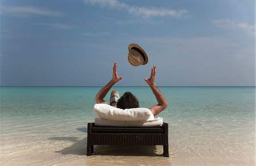
M 160 146 L 97 146 L 98 155 L 86 156 L 87 123 L 96 118 L 100 89 L 1 87 L 0 164 L 255 164 L 255 87 L 159 87 L 169 105 L 156 117 L 169 124 L 170 157 L 159 156 Z M 133 93 L 141 107 L 157 103 L 148 87 L 111 90 Z

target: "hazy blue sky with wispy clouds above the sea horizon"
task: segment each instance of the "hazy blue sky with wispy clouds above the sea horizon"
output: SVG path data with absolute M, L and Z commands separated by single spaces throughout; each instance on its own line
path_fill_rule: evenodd
M 255 86 L 255 1 L 1 0 L 0 37 L 1 86 Z

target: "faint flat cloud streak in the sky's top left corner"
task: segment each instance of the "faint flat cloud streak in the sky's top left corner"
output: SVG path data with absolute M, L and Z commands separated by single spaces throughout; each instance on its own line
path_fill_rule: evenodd
M 52 11 L 48 9 L 40 9 L 35 6 L 2 6 L 1 13 L 18 17 L 26 17 L 31 15 L 42 16 L 64 16 L 64 13 Z

